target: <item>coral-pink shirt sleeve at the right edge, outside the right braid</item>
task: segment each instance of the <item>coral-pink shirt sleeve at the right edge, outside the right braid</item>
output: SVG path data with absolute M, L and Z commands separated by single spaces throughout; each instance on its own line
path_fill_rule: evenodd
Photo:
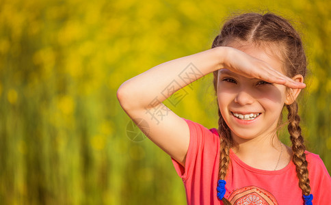
M 308 172 L 310 193 L 313 193 L 313 204 L 330 204 L 331 177 L 323 161 L 317 154 L 308 152 Z

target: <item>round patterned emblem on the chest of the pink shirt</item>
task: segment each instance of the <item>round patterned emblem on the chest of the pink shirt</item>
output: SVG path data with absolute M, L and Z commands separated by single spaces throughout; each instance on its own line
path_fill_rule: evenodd
M 228 200 L 233 205 L 278 205 L 274 195 L 259 187 L 243 187 L 231 193 Z

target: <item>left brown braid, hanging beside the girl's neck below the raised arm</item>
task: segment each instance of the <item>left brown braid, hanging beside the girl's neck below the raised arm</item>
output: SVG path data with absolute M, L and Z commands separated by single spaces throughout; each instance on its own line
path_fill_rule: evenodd
M 218 133 L 220 134 L 220 167 L 218 171 L 218 178 L 225 180 L 226 171 L 228 170 L 228 163 L 230 163 L 230 146 L 232 144 L 232 138 L 230 135 L 230 128 L 224 121 L 220 109 L 218 109 Z M 222 198 L 222 202 L 225 205 L 231 205 L 231 203 L 225 198 Z

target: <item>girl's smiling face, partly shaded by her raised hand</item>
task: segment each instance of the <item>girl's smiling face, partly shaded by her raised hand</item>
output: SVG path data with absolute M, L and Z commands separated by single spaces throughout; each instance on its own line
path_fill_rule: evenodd
M 254 46 L 239 50 L 266 61 L 284 74 L 282 62 L 276 55 L 267 55 Z M 227 69 L 218 71 L 218 104 L 235 141 L 275 135 L 286 96 L 284 85 L 250 79 Z

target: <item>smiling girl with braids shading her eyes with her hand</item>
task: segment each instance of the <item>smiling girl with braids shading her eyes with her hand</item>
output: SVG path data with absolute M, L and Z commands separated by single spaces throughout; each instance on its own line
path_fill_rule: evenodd
M 218 130 L 178 117 L 163 100 L 213 72 Z M 212 49 L 155 66 L 117 96 L 146 136 L 172 157 L 187 204 L 330 204 L 331 179 L 305 150 L 295 99 L 305 87 L 300 36 L 275 14 L 228 20 Z M 171 98 L 170 98 L 171 100 Z M 277 137 L 288 110 L 292 147 Z

